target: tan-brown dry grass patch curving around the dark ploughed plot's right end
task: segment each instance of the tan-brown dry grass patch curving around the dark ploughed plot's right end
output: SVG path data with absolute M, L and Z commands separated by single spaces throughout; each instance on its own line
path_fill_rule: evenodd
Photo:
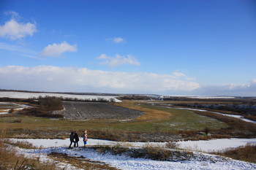
M 125 101 L 122 101 L 119 103 L 114 103 L 114 104 L 119 107 L 135 109 L 135 110 L 139 110 L 140 112 L 143 112 L 143 115 L 136 118 L 136 120 L 160 120 L 160 119 L 167 118 L 167 117 L 171 116 L 170 112 L 141 107 L 140 105 L 138 105 L 139 103 L 137 103 L 136 101 L 126 101 L 125 100 Z

